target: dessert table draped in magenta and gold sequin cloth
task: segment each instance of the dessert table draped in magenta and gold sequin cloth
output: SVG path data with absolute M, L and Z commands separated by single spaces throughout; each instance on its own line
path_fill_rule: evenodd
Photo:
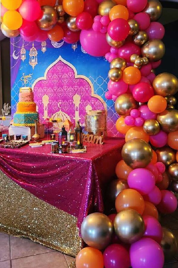
M 89 144 L 86 153 L 51 154 L 51 146 L 0 148 L 0 232 L 76 256 L 82 220 L 103 212 L 124 139 Z

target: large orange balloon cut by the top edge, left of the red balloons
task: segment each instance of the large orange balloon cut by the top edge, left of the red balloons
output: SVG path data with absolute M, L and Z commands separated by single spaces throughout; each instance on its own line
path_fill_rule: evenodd
M 63 0 L 63 9 L 71 16 L 79 15 L 84 9 L 83 0 Z

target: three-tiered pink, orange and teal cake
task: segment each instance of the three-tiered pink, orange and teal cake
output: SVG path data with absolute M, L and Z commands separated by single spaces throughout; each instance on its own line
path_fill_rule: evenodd
M 20 88 L 19 102 L 17 111 L 14 114 L 13 125 L 33 127 L 35 125 L 34 120 L 38 120 L 38 113 L 36 112 L 32 89 Z

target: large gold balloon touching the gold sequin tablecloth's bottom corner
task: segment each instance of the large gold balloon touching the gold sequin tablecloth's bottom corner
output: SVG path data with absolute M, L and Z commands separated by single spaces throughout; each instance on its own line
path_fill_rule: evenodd
M 112 232 L 112 222 L 102 213 L 89 214 L 81 225 L 82 239 L 88 246 L 98 250 L 103 250 L 109 245 Z

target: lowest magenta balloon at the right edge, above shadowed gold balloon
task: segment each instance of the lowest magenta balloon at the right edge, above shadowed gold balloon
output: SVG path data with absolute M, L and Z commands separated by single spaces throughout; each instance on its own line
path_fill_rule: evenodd
M 160 213 L 171 214 L 177 209 L 177 198 L 168 190 L 161 191 L 161 202 L 157 206 Z

